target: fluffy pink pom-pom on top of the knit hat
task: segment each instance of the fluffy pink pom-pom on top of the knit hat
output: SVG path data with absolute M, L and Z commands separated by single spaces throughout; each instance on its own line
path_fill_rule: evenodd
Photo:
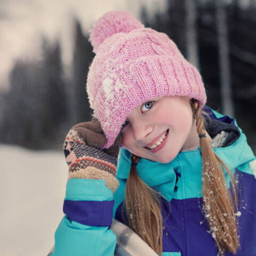
M 129 33 L 134 29 L 144 26 L 135 19 L 132 14 L 124 11 L 110 11 L 104 14 L 90 31 L 89 41 L 93 46 L 93 51 L 97 53 L 103 41 L 116 33 Z

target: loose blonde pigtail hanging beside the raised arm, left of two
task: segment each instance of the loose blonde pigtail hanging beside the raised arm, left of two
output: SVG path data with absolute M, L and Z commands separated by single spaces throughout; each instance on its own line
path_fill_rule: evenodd
M 125 209 L 129 226 L 157 254 L 162 255 L 163 219 L 156 191 L 139 176 L 136 166 L 141 158 L 132 155 L 125 188 Z

